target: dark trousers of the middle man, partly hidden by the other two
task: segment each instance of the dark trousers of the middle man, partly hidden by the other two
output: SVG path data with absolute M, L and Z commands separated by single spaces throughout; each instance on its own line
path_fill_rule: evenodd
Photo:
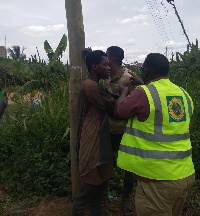
M 123 134 L 111 134 L 112 148 L 115 153 L 118 152 L 119 150 L 119 145 L 120 145 L 122 136 Z M 116 160 L 117 160 L 117 156 L 114 157 L 115 166 L 116 166 Z M 136 180 L 133 177 L 133 173 L 125 171 L 124 180 L 123 180 L 123 189 L 122 189 L 122 200 L 126 200 L 130 198 L 134 183 L 136 183 Z

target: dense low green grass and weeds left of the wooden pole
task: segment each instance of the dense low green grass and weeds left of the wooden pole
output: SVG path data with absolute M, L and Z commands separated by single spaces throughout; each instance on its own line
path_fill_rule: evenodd
M 68 86 L 42 93 L 42 107 L 21 101 L 0 124 L 0 181 L 13 196 L 71 192 Z

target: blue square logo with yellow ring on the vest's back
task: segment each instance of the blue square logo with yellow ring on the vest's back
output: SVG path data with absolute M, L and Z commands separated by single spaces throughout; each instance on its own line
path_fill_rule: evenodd
M 167 96 L 169 122 L 186 121 L 185 107 L 181 96 Z

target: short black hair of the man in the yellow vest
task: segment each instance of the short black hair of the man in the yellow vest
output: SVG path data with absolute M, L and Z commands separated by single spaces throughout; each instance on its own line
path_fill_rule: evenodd
M 167 76 L 169 71 L 169 60 L 160 53 L 150 53 L 147 55 L 144 68 L 150 73 L 149 76 L 161 77 Z

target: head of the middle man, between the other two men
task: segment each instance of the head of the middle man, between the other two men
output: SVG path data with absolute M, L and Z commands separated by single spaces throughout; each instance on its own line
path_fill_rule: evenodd
M 121 47 L 118 46 L 108 47 L 106 54 L 108 56 L 110 65 L 112 65 L 113 63 L 122 65 L 122 60 L 124 59 L 124 50 Z

